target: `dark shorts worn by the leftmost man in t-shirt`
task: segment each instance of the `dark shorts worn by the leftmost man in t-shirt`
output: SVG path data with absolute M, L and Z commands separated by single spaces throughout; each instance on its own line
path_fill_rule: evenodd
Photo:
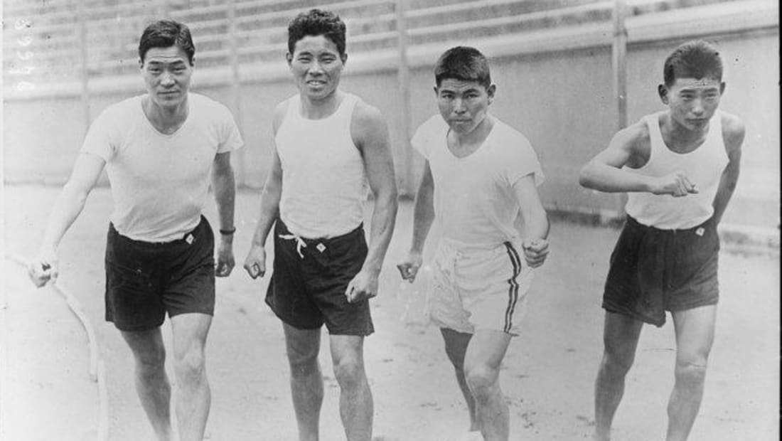
M 201 217 L 172 242 L 127 238 L 109 224 L 106 238 L 106 321 L 121 331 L 159 327 L 178 314 L 214 313 L 214 235 Z

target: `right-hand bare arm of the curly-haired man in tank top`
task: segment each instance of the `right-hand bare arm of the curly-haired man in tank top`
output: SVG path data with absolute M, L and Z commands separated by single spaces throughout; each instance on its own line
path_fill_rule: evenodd
M 350 132 L 361 149 L 369 187 L 375 196 L 367 258 L 345 292 L 348 301 L 355 302 L 378 293 L 378 275 L 396 221 L 396 179 L 388 127 L 378 109 L 363 102 L 357 104 Z

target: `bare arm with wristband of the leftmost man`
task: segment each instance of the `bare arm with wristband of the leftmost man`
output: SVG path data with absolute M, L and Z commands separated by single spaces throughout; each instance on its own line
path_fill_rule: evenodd
M 234 230 L 234 210 L 236 200 L 236 182 L 231 167 L 231 152 L 217 153 L 212 165 L 212 189 L 217 203 L 217 215 L 220 217 L 220 229 Z M 234 268 L 234 235 L 220 234 L 217 246 L 217 277 L 227 277 Z

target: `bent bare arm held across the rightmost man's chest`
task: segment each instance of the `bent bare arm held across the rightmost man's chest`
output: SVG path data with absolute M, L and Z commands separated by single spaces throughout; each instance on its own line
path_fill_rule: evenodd
M 608 148 L 598 153 L 579 174 L 579 184 L 601 192 L 650 192 L 655 195 L 684 196 L 698 192 L 687 176 L 675 172 L 648 177 L 622 170 L 642 167 L 649 159 L 649 134 L 643 122 L 618 131 Z

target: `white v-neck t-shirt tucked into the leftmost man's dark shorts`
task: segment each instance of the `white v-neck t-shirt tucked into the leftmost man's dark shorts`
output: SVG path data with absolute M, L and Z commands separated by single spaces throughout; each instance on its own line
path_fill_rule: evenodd
M 173 134 L 152 126 L 143 95 L 109 106 L 91 124 L 81 152 L 106 161 L 120 235 L 170 242 L 199 224 L 217 153 L 242 147 L 227 107 L 188 94 L 188 117 Z

